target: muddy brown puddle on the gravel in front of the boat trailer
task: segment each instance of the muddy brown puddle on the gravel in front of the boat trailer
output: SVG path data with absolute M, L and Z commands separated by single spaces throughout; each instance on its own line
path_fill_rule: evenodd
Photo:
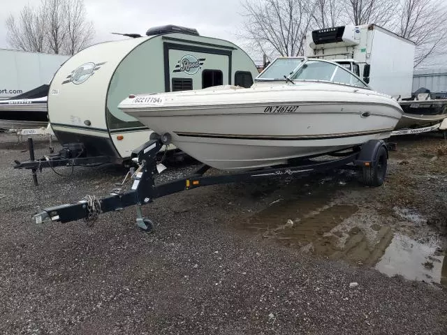
M 447 285 L 447 260 L 437 252 L 437 241 L 421 244 L 358 211 L 356 205 L 336 204 L 324 197 L 281 200 L 237 227 L 303 253 L 375 267 L 389 276 Z M 424 221 L 417 212 L 399 214 L 409 221 Z

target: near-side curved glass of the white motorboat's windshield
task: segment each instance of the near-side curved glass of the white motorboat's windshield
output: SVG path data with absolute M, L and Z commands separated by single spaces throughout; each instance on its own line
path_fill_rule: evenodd
M 359 77 L 346 70 L 343 66 L 332 64 L 328 61 L 307 60 L 293 75 L 291 80 L 315 80 L 334 82 L 362 89 L 369 88 Z

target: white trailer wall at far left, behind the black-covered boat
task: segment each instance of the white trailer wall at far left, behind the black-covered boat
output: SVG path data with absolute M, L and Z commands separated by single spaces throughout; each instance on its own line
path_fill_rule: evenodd
M 0 99 L 50 84 L 54 73 L 68 58 L 61 54 L 0 49 Z

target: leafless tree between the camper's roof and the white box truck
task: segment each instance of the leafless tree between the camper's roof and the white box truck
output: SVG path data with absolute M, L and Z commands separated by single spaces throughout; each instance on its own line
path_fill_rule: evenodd
M 297 56 L 304 52 L 314 2 L 303 0 L 244 0 L 244 31 L 240 35 L 263 54 Z

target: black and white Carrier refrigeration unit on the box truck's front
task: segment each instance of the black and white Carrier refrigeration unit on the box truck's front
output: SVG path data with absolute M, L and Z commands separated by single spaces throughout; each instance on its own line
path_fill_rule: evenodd
M 312 41 L 309 45 L 312 49 L 323 49 L 329 45 L 348 47 L 358 43 L 360 43 L 360 29 L 355 26 L 343 26 L 312 31 Z

